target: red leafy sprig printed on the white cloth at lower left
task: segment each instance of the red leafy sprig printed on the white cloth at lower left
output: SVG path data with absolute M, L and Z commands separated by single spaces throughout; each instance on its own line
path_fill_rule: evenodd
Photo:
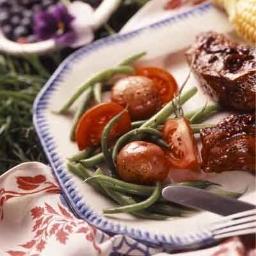
M 48 237 L 54 236 L 56 241 L 66 244 L 73 233 L 84 234 L 84 239 L 90 241 L 93 248 L 101 253 L 94 240 L 97 232 L 96 228 L 90 227 L 83 220 L 78 220 L 60 204 L 58 204 L 58 209 L 54 209 L 47 203 L 44 203 L 44 207 L 36 206 L 31 209 L 31 216 L 35 223 L 31 231 L 33 238 L 24 244 L 20 244 L 20 250 L 8 250 L 7 252 L 11 256 L 40 255 L 45 248 Z M 36 253 L 31 254 L 32 250 Z

